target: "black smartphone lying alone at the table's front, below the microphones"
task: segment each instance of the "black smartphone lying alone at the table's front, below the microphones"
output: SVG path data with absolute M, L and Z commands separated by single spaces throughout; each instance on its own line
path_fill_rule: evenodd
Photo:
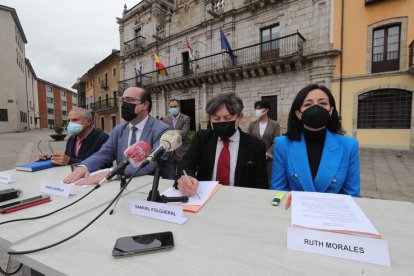
M 112 256 L 126 257 L 140 253 L 172 249 L 174 238 L 172 232 L 122 237 L 116 240 Z

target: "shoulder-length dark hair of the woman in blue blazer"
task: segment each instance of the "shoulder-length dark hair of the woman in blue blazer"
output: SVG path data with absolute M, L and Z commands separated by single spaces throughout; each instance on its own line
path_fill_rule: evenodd
M 329 105 L 333 107 L 331 119 L 329 120 L 328 125 L 326 126 L 327 129 L 336 134 L 345 134 L 345 130 L 342 128 L 341 125 L 341 118 L 339 117 L 338 111 L 336 110 L 335 99 L 331 91 L 324 85 L 310 84 L 304 87 L 302 90 L 300 90 L 299 93 L 296 95 L 295 99 L 293 100 L 292 106 L 289 111 L 286 132 L 286 136 L 289 138 L 289 140 L 300 141 L 303 131 L 303 123 L 301 120 L 298 119 L 295 111 L 300 110 L 300 107 L 302 106 L 306 96 L 309 94 L 309 92 L 315 89 L 322 90 L 328 96 Z

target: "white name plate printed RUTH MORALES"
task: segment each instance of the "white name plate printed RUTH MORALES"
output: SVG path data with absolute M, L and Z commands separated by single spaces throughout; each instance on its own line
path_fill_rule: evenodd
M 391 266 L 386 240 L 288 227 L 287 248 Z

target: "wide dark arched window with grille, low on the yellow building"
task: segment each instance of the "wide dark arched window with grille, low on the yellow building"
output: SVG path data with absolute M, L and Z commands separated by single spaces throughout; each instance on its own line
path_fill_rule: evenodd
M 409 129 L 413 94 L 403 89 L 377 89 L 358 96 L 359 129 Z

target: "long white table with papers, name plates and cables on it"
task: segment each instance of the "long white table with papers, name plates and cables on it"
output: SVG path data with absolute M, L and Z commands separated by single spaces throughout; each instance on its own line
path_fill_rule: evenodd
M 129 200 L 147 197 L 148 180 L 134 179 L 131 187 L 135 188 L 129 188 L 115 213 L 104 214 L 74 239 L 13 258 L 46 275 L 411 275 L 414 270 L 414 205 L 410 202 L 357 199 L 389 243 L 391 267 L 384 267 L 288 250 L 291 213 L 283 205 L 271 205 L 275 191 L 222 187 L 199 213 L 185 213 L 189 220 L 183 225 L 135 216 Z M 161 180 L 160 190 L 171 184 Z M 119 185 L 107 186 L 115 186 L 108 188 L 109 193 Z M 27 238 L 14 240 L 11 248 L 33 249 L 68 236 L 103 209 L 105 200 L 99 204 L 95 200 L 85 212 L 77 209 L 81 206 L 72 207 L 66 213 L 69 218 L 60 223 L 50 218 L 43 230 L 26 229 Z M 0 230 L 2 239 L 10 236 L 12 229 L 6 230 Z M 119 237 L 162 231 L 173 232 L 173 250 L 120 259 L 111 255 Z

